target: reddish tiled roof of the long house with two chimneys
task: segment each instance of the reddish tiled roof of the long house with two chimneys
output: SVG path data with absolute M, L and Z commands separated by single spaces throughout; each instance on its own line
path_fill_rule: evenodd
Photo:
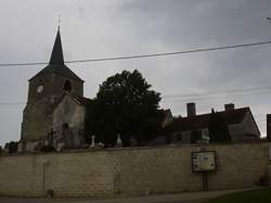
M 220 114 L 225 123 L 240 124 L 244 116 L 249 112 L 249 107 L 235 109 L 231 111 L 217 112 Z M 211 113 L 196 115 L 193 117 L 180 117 L 172 120 L 165 130 L 167 131 L 190 131 L 193 129 L 208 128 Z

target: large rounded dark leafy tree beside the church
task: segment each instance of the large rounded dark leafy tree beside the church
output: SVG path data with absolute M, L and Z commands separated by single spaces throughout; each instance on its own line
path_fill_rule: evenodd
M 94 134 L 96 141 L 111 145 L 118 134 L 124 145 L 129 145 L 131 137 L 140 143 L 155 138 L 163 114 L 158 110 L 160 94 L 150 88 L 137 69 L 108 77 L 89 104 L 88 136 Z

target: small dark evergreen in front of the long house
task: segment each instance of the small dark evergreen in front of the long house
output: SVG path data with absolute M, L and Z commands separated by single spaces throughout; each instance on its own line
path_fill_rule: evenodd
M 222 114 L 216 113 L 211 110 L 210 122 L 210 142 L 227 142 L 231 141 L 231 136 L 229 134 L 228 125 L 224 120 Z

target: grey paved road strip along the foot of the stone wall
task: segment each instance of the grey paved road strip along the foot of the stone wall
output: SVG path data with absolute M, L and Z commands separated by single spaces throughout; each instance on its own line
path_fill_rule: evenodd
M 112 199 L 17 199 L 0 198 L 0 203 L 205 203 L 211 198 L 241 190 L 193 192 Z M 243 190 L 242 190 L 243 191 Z

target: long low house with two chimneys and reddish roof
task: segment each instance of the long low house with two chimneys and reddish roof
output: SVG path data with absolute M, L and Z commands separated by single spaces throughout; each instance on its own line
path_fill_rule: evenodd
M 223 120 L 224 132 L 230 136 L 232 142 L 260 138 L 259 128 L 249 107 L 234 109 L 234 104 L 230 103 L 224 105 L 224 111 L 197 115 L 195 103 L 188 103 L 186 106 L 188 117 L 175 118 L 165 126 L 164 134 L 167 135 L 168 142 L 193 143 L 210 139 L 214 115 Z

